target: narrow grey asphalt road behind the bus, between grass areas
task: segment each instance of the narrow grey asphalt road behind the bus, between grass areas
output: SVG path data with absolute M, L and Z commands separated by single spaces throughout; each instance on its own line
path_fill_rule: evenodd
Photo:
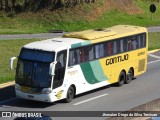
M 148 27 L 148 32 L 160 32 L 160 26 L 158 27 Z M 32 38 L 55 38 L 61 37 L 66 32 L 63 33 L 40 33 L 40 34 L 18 34 L 18 35 L 0 35 L 0 40 L 13 40 L 13 39 L 32 39 Z

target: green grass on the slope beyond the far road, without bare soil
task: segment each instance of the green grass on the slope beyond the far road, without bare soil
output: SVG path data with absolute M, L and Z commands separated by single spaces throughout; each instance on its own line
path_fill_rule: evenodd
M 79 5 L 75 8 L 59 9 L 57 11 L 43 10 L 37 13 L 25 12 L 8 17 L 0 12 L 0 34 L 23 34 L 23 33 L 45 33 L 49 30 L 61 29 L 64 31 L 80 31 L 92 28 L 104 28 L 117 24 L 131 24 L 139 26 L 160 25 L 160 4 L 155 3 L 157 11 L 151 13 L 149 6 L 151 2 L 146 0 L 135 0 L 142 9 L 141 14 L 128 14 L 123 10 L 110 9 L 102 12 L 94 18 L 92 11 L 103 7 L 103 4 Z

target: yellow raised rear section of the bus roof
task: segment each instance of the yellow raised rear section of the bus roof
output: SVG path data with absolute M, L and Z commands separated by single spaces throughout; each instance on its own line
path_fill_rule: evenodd
M 84 40 L 95 40 L 110 36 L 127 35 L 146 31 L 145 27 L 131 26 L 131 25 L 117 25 L 110 28 L 93 29 L 81 32 L 73 32 L 63 35 L 64 38 L 80 38 Z

